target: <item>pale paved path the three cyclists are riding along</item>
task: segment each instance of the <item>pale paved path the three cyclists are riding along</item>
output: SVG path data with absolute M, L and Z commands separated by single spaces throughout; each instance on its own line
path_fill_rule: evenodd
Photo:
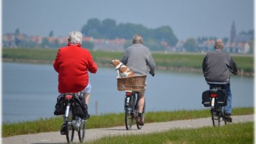
M 233 123 L 254 121 L 254 115 L 232 116 Z M 169 122 L 157 122 L 145 124 L 142 130 L 137 130 L 137 126 L 132 126 L 132 130 L 127 131 L 125 126 L 110 127 L 105 129 L 86 130 L 86 142 L 96 140 L 104 136 L 130 135 L 130 134 L 148 134 L 152 132 L 161 132 L 172 129 L 191 129 L 203 126 L 212 126 L 211 118 L 177 120 Z M 76 133 L 75 142 L 78 141 Z M 60 132 L 44 132 L 40 134 L 19 135 L 2 138 L 2 143 L 66 143 L 66 135 L 60 135 Z

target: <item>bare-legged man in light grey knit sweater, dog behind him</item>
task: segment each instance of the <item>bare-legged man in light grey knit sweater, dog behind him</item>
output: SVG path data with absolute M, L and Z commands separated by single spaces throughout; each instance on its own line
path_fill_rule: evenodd
M 135 35 L 132 41 L 132 45 L 127 47 L 124 53 L 124 57 L 121 60 L 127 67 L 137 75 L 146 75 L 148 72 L 154 77 L 156 64 L 150 53 L 150 50 L 143 45 L 143 39 L 141 35 Z M 141 119 L 143 105 L 145 103 L 145 90 L 138 92 L 138 118 L 137 124 L 144 125 Z

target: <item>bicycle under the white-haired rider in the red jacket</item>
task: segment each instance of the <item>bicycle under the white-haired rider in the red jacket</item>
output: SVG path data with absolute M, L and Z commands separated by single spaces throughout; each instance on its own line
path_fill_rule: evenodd
M 83 120 L 77 115 L 73 114 L 74 98 L 78 97 L 79 95 L 81 95 L 81 92 L 63 94 L 66 105 L 64 124 L 66 125 L 66 138 L 68 143 L 73 142 L 74 131 L 78 132 L 79 142 L 84 141 L 86 134 L 86 120 Z

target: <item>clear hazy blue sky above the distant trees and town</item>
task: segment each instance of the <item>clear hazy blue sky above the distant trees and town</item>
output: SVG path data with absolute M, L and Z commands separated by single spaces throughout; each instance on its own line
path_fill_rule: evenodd
M 2 34 L 67 36 L 81 31 L 88 19 L 113 19 L 117 24 L 170 26 L 179 40 L 215 36 L 230 38 L 254 29 L 253 0 L 2 0 Z

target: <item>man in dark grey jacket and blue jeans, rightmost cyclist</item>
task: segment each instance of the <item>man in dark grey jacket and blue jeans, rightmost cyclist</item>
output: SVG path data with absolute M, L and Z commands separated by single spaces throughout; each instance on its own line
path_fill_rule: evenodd
M 215 41 L 215 50 L 208 52 L 202 62 L 202 72 L 206 82 L 212 84 L 222 84 L 222 89 L 227 92 L 227 105 L 225 115 L 230 118 L 232 113 L 232 94 L 230 90 L 230 72 L 238 74 L 237 65 L 228 52 L 223 52 L 223 42 L 221 39 Z

